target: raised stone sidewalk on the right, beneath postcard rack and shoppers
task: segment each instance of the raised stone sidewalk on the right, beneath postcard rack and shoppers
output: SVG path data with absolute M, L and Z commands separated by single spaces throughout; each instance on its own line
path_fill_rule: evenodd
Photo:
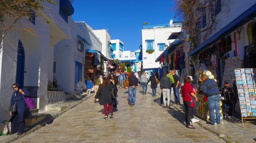
M 151 91 L 150 91 L 151 92 Z M 152 92 L 151 92 L 152 93 Z M 161 89 L 157 88 L 158 95 L 161 95 Z M 174 101 L 174 95 L 171 95 L 171 102 Z M 160 103 L 160 99 L 155 99 L 156 102 Z M 182 97 L 180 99 L 182 106 L 172 104 L 175 109 L 177 109 L 180 112 L 183 112 L 183 102 Z M 194 111 L 195 117 L 196 111 Z M 206 124 L 205 120 L 202 120 L 201 118 L 198 118 L 200 122 L 198 122 L 203 128 L 214 132 L 219 137 L 222 137 L 226 141 L 230 141 L 231 143 L 256 143 L 254 139 L 256 139 L 256 122 L 253 123 L 245 123 L 244 128 L 242 124 L 241 117 L 240 118 L 234 118 L 226 119 L 223 118 L 221 120 L 220 125 L 209 125 Z

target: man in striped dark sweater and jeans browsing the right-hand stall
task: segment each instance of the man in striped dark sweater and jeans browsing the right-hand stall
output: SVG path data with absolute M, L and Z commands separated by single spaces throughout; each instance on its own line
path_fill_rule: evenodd
M 202 93 L 205 93 L 208 100 L 208 106 L 210 111 L 210 123 L 215 125 L 215 114 L 216 114 L 216 123 L 221 124 L 221 113 L 220 113 L 220 99 L 221 93 L 217 83 L 213 79 L 209 79 L 207 75 L 201 75 L 203 81 Z M 216 111 L 216 113 L 214 112 Z

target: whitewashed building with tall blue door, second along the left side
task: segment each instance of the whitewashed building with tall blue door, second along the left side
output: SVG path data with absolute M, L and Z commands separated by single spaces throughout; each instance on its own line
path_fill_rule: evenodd
M 79 79 L 84 81 L 85 52 L 97 50 L 101 52 L 101 41 L 85 22 L 70 22 L 68 40 L 61 40 L 54 46 L 54 76 L 63 90 L 76 93 Z

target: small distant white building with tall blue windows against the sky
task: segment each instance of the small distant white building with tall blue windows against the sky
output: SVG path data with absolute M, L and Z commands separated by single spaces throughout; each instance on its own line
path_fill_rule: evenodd
M 123 42 L 119 39 L 111 40 L 110 42 L 114 49 L 113 58 L 115 58 L 115 59 L 122 58 L 123 57 L 123 48 L 124 48 Z

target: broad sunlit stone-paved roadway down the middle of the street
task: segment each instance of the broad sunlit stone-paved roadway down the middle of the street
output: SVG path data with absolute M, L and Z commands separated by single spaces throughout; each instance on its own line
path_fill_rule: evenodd
M 141 87 L 130 107 L 128 90 L 119 89 L 118 111 L 108 121 L 103 120 L 103 106 L 91 97 L 15 143 L 223 143 L 198 124 L 187 129 L 181 112 L 164 109 L 139 91 Z

